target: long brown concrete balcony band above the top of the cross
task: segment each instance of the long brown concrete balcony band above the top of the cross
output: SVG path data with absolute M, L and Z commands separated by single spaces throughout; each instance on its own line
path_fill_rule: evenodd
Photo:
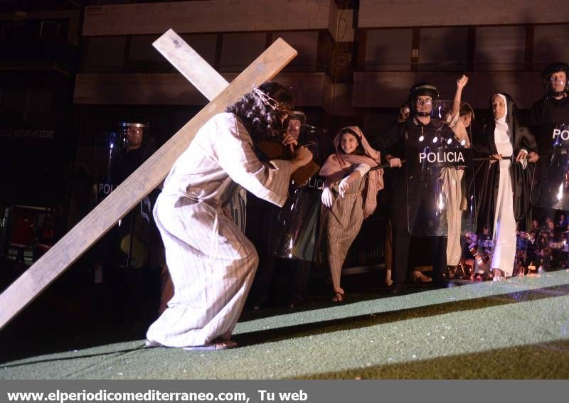
M 204 0 L 89 6 L 83 36 L 329 28 L 334 0 Z

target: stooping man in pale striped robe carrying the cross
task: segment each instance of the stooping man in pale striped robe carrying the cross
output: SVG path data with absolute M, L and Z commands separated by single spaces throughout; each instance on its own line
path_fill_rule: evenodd
M 292 96 L 265 82 L 212 117 L 196 134 L 164 182 L 154 207 L 174 297 L 147 332 L 147 346 L 221 350 L 229 340 L 257 269 L 255 247 L 227 206 L 240 186 L 282 206 L 290 175 L 312 160 L 300 146 L 291 161 L 257 158 L 254 142 L 296 141 L 284 136 Z

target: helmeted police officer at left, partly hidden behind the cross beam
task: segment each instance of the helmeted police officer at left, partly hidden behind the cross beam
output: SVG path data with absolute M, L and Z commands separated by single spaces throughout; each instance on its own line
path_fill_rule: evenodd
M 144 119 L 119 123 L 120 144 L 110 164 L 110 181 L 118 186 L 156 151 Z M 163 250 L 152 208 L 156 190 L 138 203 L 105 237 L 102 282 L 107 315 L 122 325 L 146 326 L 158 313 Z

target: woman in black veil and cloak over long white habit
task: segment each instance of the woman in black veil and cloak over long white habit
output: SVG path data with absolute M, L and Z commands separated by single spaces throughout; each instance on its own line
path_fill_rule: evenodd
M 523 127 L 514 100 L 504 93 L 490 99 L 493 119 L 484 127 L 482 144 L 475 146 L 492 156 L 486 166 L 478 209 L 479 226 L 493 229 L 491 269 L 494 281 L 512 275 L 516 256 L 516 226 L 525 229 L 530 216 L 531 170 L 528 162 L 538 159 L 536 139 Z M 512 156 L 511 159 L 502 158 Z M 497 160 L 497 163 L 496 163 Z

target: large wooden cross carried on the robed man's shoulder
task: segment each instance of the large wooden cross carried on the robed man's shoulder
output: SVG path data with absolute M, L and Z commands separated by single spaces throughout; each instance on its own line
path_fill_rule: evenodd
M 211 102 L 0 295 L 0 329 L 159 186 L 208 119 L 250 92 L 253 84 L 275 77 L 297 55 L 279 38 L 228 85 L 174 31 L 166 32 L 154 46 Z

